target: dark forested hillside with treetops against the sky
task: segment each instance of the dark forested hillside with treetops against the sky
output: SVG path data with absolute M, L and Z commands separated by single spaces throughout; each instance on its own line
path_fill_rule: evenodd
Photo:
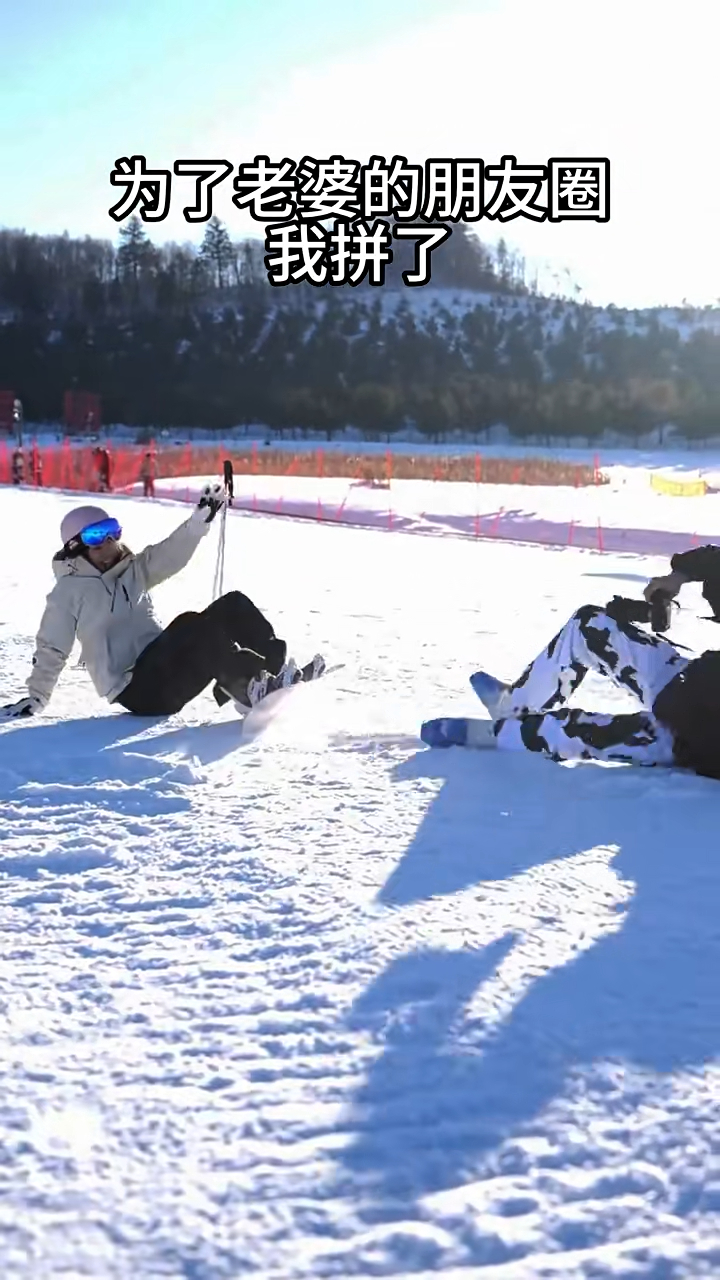
M 518 435 L 717 429 L 712 317 L 673 326 L 542 297 L 521 260 L 462 228 L 437 255 L 433 284 L 445 273 L 477 303 L 388 287 L 273 289 L 263 246 L 233 243 L 218 219 L 197 248 L 151 244 L 135 219 L 118 246 L 0 232 L 0 389 L 28 421 L 58 421 L 63 393 L 78 388 L 101 396 L 106 424 L 147 428 L 255 422 L 332 436 L 354 425 L 391 438 L 413 424 L 432 439 L 497 422 Z

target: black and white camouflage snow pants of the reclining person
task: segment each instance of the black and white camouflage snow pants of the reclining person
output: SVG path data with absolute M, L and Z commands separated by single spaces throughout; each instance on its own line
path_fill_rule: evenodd
M 584 604 L 511 686 L 510 710 L 496 724 L 497 746 L 552 760 L 673 764 L 673 735 L 652 707 L 688 660 L 662 636 Z M 588 671 L 629 690 L 642 709 L 612 716 L 568 708 Z

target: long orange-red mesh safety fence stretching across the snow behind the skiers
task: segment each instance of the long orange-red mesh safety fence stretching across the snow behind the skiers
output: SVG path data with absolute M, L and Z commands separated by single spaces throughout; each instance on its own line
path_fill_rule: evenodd
M 518 518 L 518 513 L 500 506 L 495 511 L 479 515 L 479 506 L 471 513 L 428 515 L 419 513 L 419 521 L 404 515 L 398 504 L 393 506 L 388 494 L 387 512 L 384 503 L 377 511 L 351 509 L 350 492 L 356 485 L 391 490 L 396 480 L 465 480 L 474 481 L 477 492 L 480 484 L 544 484 L 544 485 L 587 485 L 607 484 L 600 458 L 593 465 L 568 462 L 561 458 L 495 458 L 479 452 L 462 457 L 438 457 L 437 454 L 405 454 L 387 449 L 383 454 L 351 454 L 331 449 L 296 452 L 286 449 L 258 448 L 232 449 L 225 445 L 73 445 L 65 439 L 61 444 L 44 445 L 32 442 L 22 448 L 12 440 L 0 439 L 0 485 L 22 484 L 65 492 L 82 493 L 131 493 L 136 486 L 142 493 L 142 480 L 158 481 L 158 497 L 173 498 L 181 502 L 193 502 L 197 497 L 197 484 L 192 479 L 222 476 L 225 458 L 233 462 L 236 477 L 241 476 L 283 476 L 346 479 L 347 493 L 340 506 L 336 502 L 323 508 L 324 488 L 319 485 L 316 502 L 287 493 L 278 497 L 263 497 L 258 486 L 245 485 L 246 497 L 236 489 L 233 506 L 238 509 L 268 515 L 291 516 L 336 524 L 384 526 L 392 530 L 430 531 L 433 526 L 439 532 L 454 532 L 475 540 L 503 540 L 521 543 L 542 543 L 555 547 L 584 547 L 598 552 L 635 552 L 642 554 L 670 554 L 687 547 L 687 534 L 673 534 L 661 530 L 626 530 L 603 527 L 600 516 L 585 524 L 571 518 L 536 517 Z M 421 466 L 420 466 L 421 463 Z M 421 472 L 421 474 L 419 474 Z M 187 485 L 165 488 L 161 481 L 187 477 Z M 250 498 L 250 494 L 252 497 Z M 424 524 L 424 529 L 420 527 Z M 697 534 L 692 535 L 691 545 L 698 545 Z

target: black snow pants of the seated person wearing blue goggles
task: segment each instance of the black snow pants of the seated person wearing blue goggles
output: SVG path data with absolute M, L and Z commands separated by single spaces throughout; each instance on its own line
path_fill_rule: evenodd
M 132 680 L 115 699 L 136 716 L 172 716 L 211 681 L 233 694 L 261 671 L 281 671 L 287 654 L 272 625 L 241 591 L 202 613 L 179 613 L 142 650 Z

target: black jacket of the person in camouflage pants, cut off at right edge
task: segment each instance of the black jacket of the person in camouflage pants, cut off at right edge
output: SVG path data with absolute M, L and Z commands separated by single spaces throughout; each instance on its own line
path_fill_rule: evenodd
M 720 547 L 697 547 L 670 561 L 702 594 L 720 621 Z M 659 694 L 655 716 L 675 740 L 678 764 L 720 780 L 720 652 L 707 649 Z

